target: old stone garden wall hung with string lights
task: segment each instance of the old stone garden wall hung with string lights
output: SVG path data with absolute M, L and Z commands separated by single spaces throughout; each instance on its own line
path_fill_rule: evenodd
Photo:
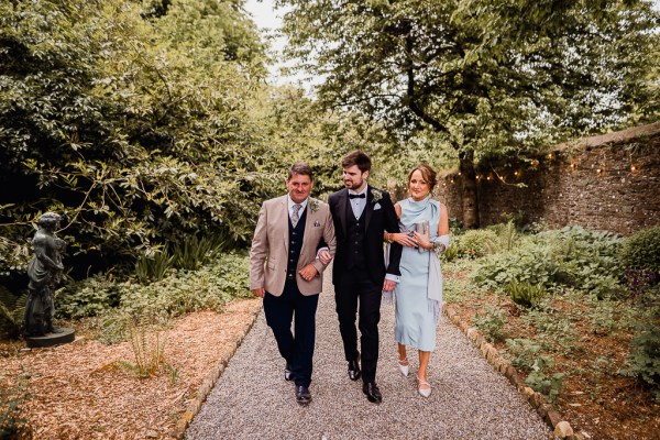
M 560 144 L 531 162 L 477 170 L 482 227 L 503 213 L 550 228 L 580 224 L 629 234 L 660 223 L 660 122 Z M 525 186 L 520 186 L 524 184 Z M 443 176 L 437 198 L 461 219 L 461 179 Z

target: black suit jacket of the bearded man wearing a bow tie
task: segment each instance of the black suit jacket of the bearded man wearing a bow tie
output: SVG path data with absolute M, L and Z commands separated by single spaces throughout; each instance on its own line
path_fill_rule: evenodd
M 380 194 L 380 200 L 374 201 L 374 194 Z M 328 198 L 330 213 L 334 223 L 337 237 L 337 253 L 332 265 L 332 284 L 338 285 L 342 274 L 346 271 L 348 235 L 346 216 L 353 216 L 349 206 L 349 190 L 346 188 L 333 193 Z M 399 261 L 403 248 L 398 243 L 392 243 L 389 249 L 389 265 L 385 267 L 385 255 L 383 246 L 383 233 L 399 232 L 396 211 L 387 191 L 382 191 L 372 186 L 366 189 L 366 206 L 364 208 L 364 221 L 366 229 L 365 252 L 366 272 L 369 277 L 376 284 L 382 284 L 385 274 L 400 275 Z

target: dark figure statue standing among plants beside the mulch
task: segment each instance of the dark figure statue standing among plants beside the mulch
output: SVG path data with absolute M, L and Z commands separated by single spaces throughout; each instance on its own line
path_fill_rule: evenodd
M 70 342 L 74 339 L 73 329 L 61 329 L 53 324 L 55 315 L 55 287 L 59 283 L 62 271 L 62 254 L 66 248 L 64 240 L 58 239 L 55 231 L 59 228 L 61 217 L 55 212 L 46 212 L 38 218 L 38 230 L 32 239 L 34 256 L 28 266 L 30 294 L 25 305 L 25 338 L 30 346 L 50 346 L 54 343 Z M 66 333 L 62 338 L 52 339 L 52 343 L 35 339 L 50 333 Z

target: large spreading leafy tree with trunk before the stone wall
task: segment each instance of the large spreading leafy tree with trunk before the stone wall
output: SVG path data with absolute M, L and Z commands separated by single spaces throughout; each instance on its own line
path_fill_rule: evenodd
M 464 226 L 473 163 L 659 114 L 658 13 L 635 0 L 278 0 L 319 99 L 453 148 Z M 656 61 L 657 61 L 657 55 Z M 436 144 L 437 145 L 437 144 Z

